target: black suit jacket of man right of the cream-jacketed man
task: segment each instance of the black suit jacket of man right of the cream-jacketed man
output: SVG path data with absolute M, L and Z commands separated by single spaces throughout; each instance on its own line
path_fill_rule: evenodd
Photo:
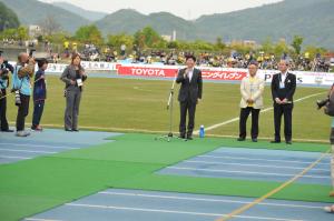
M 279 89 L 279 82 L 282 79 L 281 73 L 276 73 L 273 76 L 272 96 L 274 102 L 276 98 L 279 98 L 281 100 L 286 98 L 288 101 L 293 102 L 293 97 L 296 90 L 296 76 L 289 72 L 287 72 L 286 74 L 287 76 L 284 81 L 284 89 Z

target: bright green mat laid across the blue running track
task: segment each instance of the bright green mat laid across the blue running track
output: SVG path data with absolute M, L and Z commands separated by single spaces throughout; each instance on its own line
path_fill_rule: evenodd
M 19 220 L 107 188 L 261 197 L 278 182 L 160 175 L 167 165 L 215 150 L 240 147 L 228 139 L 155 141 L 125 134 L 115 142 L 0 165 L 0 220 Z M 247 148 L 287 149 L 285 144 L 243 142 Z M 325 144 L 294 143 L 288 150 L 318 151 Z M 276 199 L 334 202 L 330 185 L 293 184 Z

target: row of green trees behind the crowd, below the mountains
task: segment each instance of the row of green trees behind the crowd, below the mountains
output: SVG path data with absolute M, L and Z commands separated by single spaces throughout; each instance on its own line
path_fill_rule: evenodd
M 287 53 L 292 58 L 299 58 L 302 53 L 307 53 L 307 57 L 313 58 L 316 53 L 324 54 L 327 52 L 326 49 L 314 46 L 307 46 L 303 48 L 302 44 L 304 38 L 301 36 L 295 36 L 292 42 L 286 42 L 284 39 L 279 41 L 272 41 L 272 39 L 268 38 L 261 44 L 243 41 L 233 41 L 227 44 L 223 41 L 222 38 L 217 38 L 215 42 L 207 42 L 204 40 L 167 41 L 151 27 L 145 27 L 141 30 L 138 30 L 132 36 L 128 33 L 117 33 L 109 34 L 106 37 L 106 39 L 104 39 L 100 30 L 94 24 L 80 27 L 75 34 L 66 33 L 59 29 L 59 24 L 57 24 L 57 22 L 55 22 L 55 19 L 52 19 L 51 17 L 47 18 L 41 23 L 41 28 L 42 36 L 38 37 L 39 40 L 48 40 L 55 46 L 62 46 L 65 41 L 70 41 L 78 44 L 78 47 L 84 43 L 92 43 L 98 48 L 108 49 L 108 47 L 111 47 L 117 50 L 120 49 L 121 44 L 125 44 L 128 50 L 131 50 L 136 46 L 136 50 L 139 49 L 141 51 L 149 49 L 173 49 L 191 51 L 195 53 L 224 53 L 225 56 L 228 56 L 230 51 L 237 51 L 240 54 L 248 54 L 249 52 L 252 52 L 256 58 L 268 58 L 269 56 L 281 58 L 283 53 Z M 29 34 L 27 28 L 24 27 L 7 28 L 2 32 L 0 32 L 0 39 L 24 41 L 29 39 Z

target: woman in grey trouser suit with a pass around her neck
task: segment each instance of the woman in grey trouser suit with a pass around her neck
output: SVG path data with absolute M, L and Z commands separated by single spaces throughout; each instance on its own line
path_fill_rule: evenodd
M 87 76 L 80 64 L 81 58 L 78 53 L 72 54 L 71 64 L 62 72 L 60 80 L 66 83 L 66 110 L 65 130 L 78 132 L 78 115 L 81 100 L 84 81 Z

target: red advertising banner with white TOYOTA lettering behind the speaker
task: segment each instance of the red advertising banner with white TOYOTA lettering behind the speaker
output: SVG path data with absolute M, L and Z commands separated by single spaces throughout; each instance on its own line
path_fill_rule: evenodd
M 134 76 L 146 78 L 174 78 L 177 67 L 141 67 L 141 66 L 118 66 L 119 76 Z M 202 69 L 202 77 L 205 80 L 240 81 L 247 76 L 246 70 L 212 70 Z

